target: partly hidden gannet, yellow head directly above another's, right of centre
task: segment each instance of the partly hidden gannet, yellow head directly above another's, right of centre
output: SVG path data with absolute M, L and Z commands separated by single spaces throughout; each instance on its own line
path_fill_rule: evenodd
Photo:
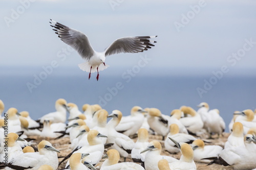
M 181 110 L 175 109 L 172 112 L 170 112 L 170 118 L 168 119 L 168 127 L 170 127 L 170 125 L 172 124 L 177 124 L 179 126 L 179 133 L 188 134 L 185 126 L 180 122 L 180 118 L 181 118 Z

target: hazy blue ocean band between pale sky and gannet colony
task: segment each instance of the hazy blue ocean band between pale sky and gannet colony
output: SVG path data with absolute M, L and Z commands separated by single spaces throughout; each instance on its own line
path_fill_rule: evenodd
M 123 115 L 129 115 L 136 105 L 155 107 L 169 115 L 182 105 L 197 110 L 199 103 L 207 102 L 210 109 L 220 110 L 226 127 L 234 111 L 256 107 L 254 76 L 224 75 L 220 78 L 218 75 L 147 75 L 129 71 L 108 74 L 102 71 L 97 82 L 95 73 L 88 80 L 88 73 L 80 70 L 71 74 L 70 69 L 61 68 L 48 74 L 42 69 L 19 69 L 18 72 L 12 69 L 3 72 L 2 69 L 0 99 L 5 111 L 16 107 L 18 111 L 29 111 L 34 119 L 55 111 L 55 101 L 59 98 L 77 104 L 80 110 L 83 104 L 100 104 L 109 113 L 118 109 Z

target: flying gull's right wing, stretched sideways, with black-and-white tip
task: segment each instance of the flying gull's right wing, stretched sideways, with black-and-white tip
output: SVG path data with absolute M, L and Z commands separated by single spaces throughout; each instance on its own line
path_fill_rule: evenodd
M 118 53 L 139 53 L 147 51 L 151 46 L 155 46 L 152 43 L 156 41 L 150 40 L 157 36 L 141 36 L 141 37 L 124 37 L 115 40 L 105 50 L 105 57 Z

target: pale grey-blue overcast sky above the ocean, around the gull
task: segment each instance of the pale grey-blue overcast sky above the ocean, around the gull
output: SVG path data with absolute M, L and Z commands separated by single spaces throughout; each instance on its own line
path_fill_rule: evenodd
M 61 60 L 62 49 L 68 48 L 52 31 L 51 18 L 86 34 L 99 52 L 120 37 L 158 35 L 147 52 L 108 57 L 109 69 L 135 65 L 146 55 L 152 68 L 204 72 L 227 65 L 234 72 L 256 71 L 255 1 L 30 1 L 0 1 L 0 66 L 84 62 L 76 52 Z

